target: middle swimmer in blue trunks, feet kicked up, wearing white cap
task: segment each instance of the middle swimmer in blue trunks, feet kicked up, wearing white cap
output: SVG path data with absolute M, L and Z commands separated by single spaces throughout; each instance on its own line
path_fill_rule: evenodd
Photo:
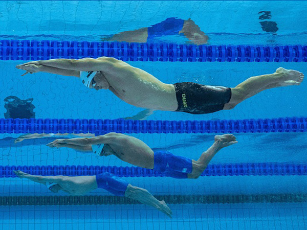
M 153 152 L 144 142 L 121 133 L 107 133 L 95 137 L 57 139 L 49 147 L 67 147 L 79 151 L 93 151 L 98 156 L 115 155 L 129 164 L 153 169 L 166 176 L 196 179 L 207 168 L 213 156 L 222 148 L 237 143 L 232 134 L 216 135 L 213 145 L 198 160 L 176 156 L 168 151 Z

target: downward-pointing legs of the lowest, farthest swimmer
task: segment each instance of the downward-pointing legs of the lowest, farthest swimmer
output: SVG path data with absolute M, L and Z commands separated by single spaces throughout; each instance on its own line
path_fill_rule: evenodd
M 127 187 L 125 196 L 131 199 L 140 201 L 141 203 L 148 204 L 153 208 L 158 209 L 163 212 L 165 215 L 171 218 L 172 211 L 166 205 L 164 200 L 157 200 L 154 196 L 151 195 L 146 189 L 139 187 L 131 186 L 130 184 Z

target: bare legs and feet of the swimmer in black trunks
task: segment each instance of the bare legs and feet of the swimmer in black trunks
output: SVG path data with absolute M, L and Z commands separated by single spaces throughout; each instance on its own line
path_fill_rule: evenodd
M 298 71 L 277 68 L 276 72 L 268 75 L 251 77 L 231 88 L 231 99 L 224 109 L 232 109 L 238 103 L 258 94 L 259 92 L 275 87 L 299 85 L 304 75 Z

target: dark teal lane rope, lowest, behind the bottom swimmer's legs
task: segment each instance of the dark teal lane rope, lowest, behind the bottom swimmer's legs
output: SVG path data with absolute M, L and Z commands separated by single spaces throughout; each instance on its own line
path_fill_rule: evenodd
M 167 204 L 213 204 L 213 203 L 293 203 L 307 202 L 307 194 L 266 195 L 156 195 Z M 139 204 L 122 196 L 0 196 L 0 205 L 111 205 Z

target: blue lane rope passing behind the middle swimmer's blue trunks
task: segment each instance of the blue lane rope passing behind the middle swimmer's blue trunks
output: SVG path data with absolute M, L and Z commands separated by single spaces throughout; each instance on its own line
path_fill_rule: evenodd
M 117 166 L 0 166 L 0 177 L 16 177 L 13 171 L 21 170 L 42 176 L 92 176 L 103 172 L 119 177 L 165 177 L 165 174 L 140 167 Z M 202 176 L 290 176 L 307 175 L 306 164 L 242 163 L 210 164 Z

